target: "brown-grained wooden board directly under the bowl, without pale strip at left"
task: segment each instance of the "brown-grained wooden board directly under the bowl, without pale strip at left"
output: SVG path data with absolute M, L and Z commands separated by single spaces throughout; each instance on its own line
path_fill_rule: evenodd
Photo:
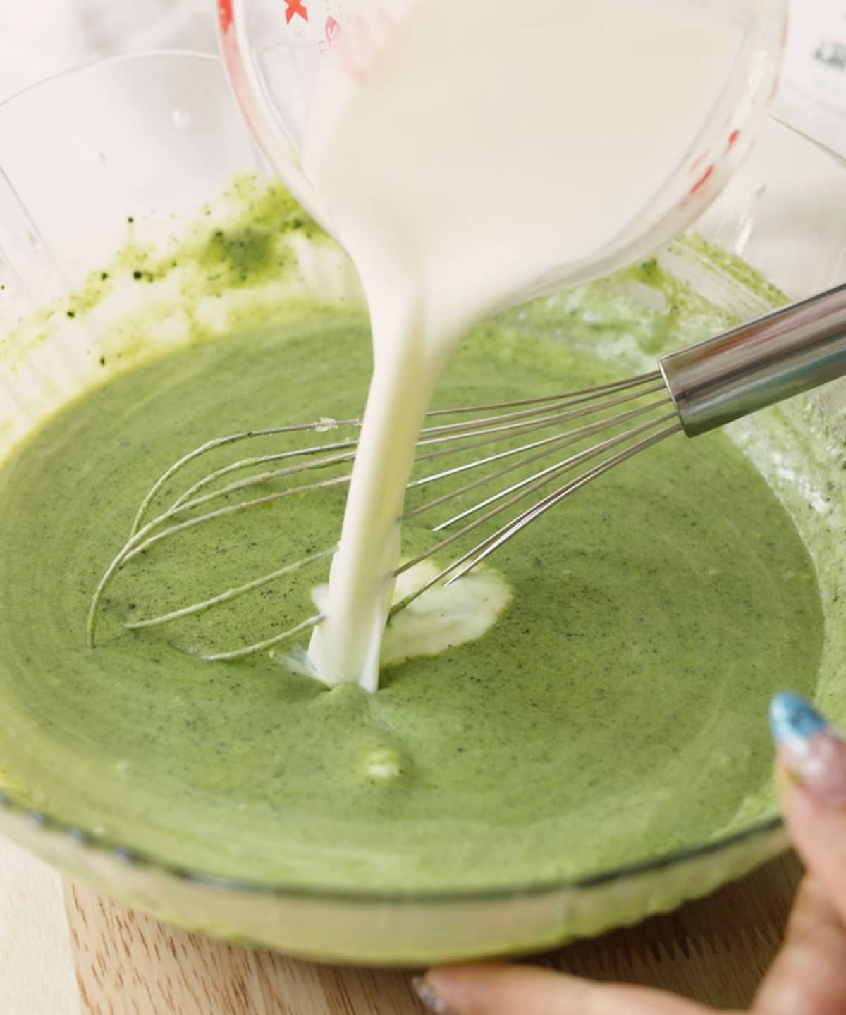
M 745 1007 L 778 948 L 800 868 L 776 860 L 677 912 L 540 961 Z M 419 1015 L 408 974 L 315 965 L 198 938 L 66 882 L 86 1015 Z M 515 1013 L 519 1015 L 519 1013 Z

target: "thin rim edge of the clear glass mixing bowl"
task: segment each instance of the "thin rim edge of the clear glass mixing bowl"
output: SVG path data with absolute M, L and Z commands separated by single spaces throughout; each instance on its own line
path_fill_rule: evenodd
M 0 112 L 5 110 L 7 106 L 27 96 L 30 92 L 53 85 L 68 77 L 91 73 L 111 65 L 160 58 L 213 62 L 220 68 L 223 78 L 225 79 L 226 77 L 222 60 L 213 53 L 205 53 L 190 48 L 142 50 L 94 59 L 42 78 L 0 100 Z M 233 98 L 233 101 L 235 103 L 235 98 Z M 771 116 L 768 119 L 775 120 L 776 118 Z M 776 122 L 780 123 L 778 120 Z M 795 131 L 788 124 L 780 123 L 780 126 L 788 127 Z M 245 131 L 247 131 L 246 126 Z M 795 131 L 795 133 L 799 134 L 802 140 L 812 143 L 812 139 L 808 138 L 801 131 Z M 0 165 L 0 175 L 2 174 L 3 170 L 2 165 Z M 740 848 L 757 837 L 768 837 L 784 829 L 782 817 L 778 812 L 773 812 L 759 818 L 744 828 L 740 828 L 729 834 L 722 834 L 705 842 L 699 842 L 696 845 L 682 847 L 659 854 L 650 859 L 634 861 L 616 867 L 603 868 L 577 877 L 549 878 L 535 882 L 524 881 L 519 884 L 490 887 L 480 886 L 477 888 L 413 889 L 404 891 L 401 889 L 386 890 L 378 887 L 344 889 L 330 885 L 303 885 L 284 881 L 253 880 L 250 878 L 217 875 L 208 871 L 182 867 L 151 853 L 135 850 L 126 843 L 109 841 L 94 834 L 89 829 L 81 828 L 52 814 L 34 809 L 15 800 L 9 791 L 3 789 L 2 786 L 0 786 L 0 815 L 22 818 L 24 821 L 30 822 L 36 828 L 47 833 L 62 836 L 67 839 L 68 844 L 81 847 L 88 853 L 116 860 L 132 867 L 146 868 L 192 885 L 253 896 L 263 895 L 328 903 L 387 905 L 407 905 L 413 903 L 448 905 L 460 902 L 490 903 L 507 899 L 536 898 L 558 893 L 580 892 L 601 888 L 616 882 L 646 877 L 650 874 L 669 870 L 686 863 L 703 860 L 710 856 L 718 856 L 731 849 Z M 14 838 L 13 833 L 11 837 Z

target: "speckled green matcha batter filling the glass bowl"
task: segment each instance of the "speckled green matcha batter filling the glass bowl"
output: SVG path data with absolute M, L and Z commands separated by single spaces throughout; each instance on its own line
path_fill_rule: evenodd
M 558 330 L 515 315 L 478 329 L 439 403 L 620 375 Z M 812 691 L 823 612 L 790 518 L 720 434 L 672 438 L 509 542 L 492 558 L 512 593 L 500 620 L 389 668 L 375 695 L 327 690 L 279 657 L 208 664 L 180 651 L 305 618 L 324 565 L 232 609 L 123 629 L 328 545 L 343 487 L 143 554 L 110 587 L 97 648 L 85 647 L 91 592 L 168 465 L 241 428 L 357 415 L 369 370 L 361 316 L 304 306 L 113 378 L 4 464 L 0 770 L 11 794 L 178 867 L 400 891 L 593 873 L 764 813 L 767 703 L 785 674 Z M 404 550 L 433 538 L 409 523 Z M 374 775 L 374 757 L 390 759 L 391 777 Z

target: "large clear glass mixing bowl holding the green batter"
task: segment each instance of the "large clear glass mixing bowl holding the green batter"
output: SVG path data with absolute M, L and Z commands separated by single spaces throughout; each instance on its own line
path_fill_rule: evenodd
M 265 172 L 220 64 L 186 53 L 126 57 L 37 85 L 0 106 L 0 335 L 106 263 L 125 239 L 127 217 L 140 228 L 175 216 L 178 228 L 233 172 Z M 846 165 L 769 122 L 700 228 L 798 297 L 846 278 L 844 207 Z M 713 302 L 741 316 L 762 309 L 707 248 L 682 242 L 659 257 Z M 323 284 L 314 264 L 303 279 Z M 160 329 L 146 351 L 172 340 Z M 0 338 L 0 457 L 95 383 L 100 354 L 84 333 L 69 338 L 60 328 Z M 846 676 L 838 667 L 846 658 L 846 596 L 838 595 L 846 545 L 829 538 L 826 553 L 814 548 L 824 531 L 843 531 L 844 404 L 841 385 L 773 410 L 801 420 L 808 434 L 803 461 L 773 456 L 754 420 L 732 429 L 815 552 L 827 623 L 818 699 L 839 721 L 846 721 Z M 789 685 L 790 674 L 783 679 Z M 131 842 L 104 842 L 94 830 L 35 813 L 15 803 L 11 788 L 0 792 L 0 804 L 5 833 L 130 906 L 214 936 L 374 964 L 542 949 L 634 923 L 745 873 L 786 841 L 773 802 L 729 837 L 633 857 L 630 866 L 577 881 L 463 894 L 343 893 L 176 869 Z

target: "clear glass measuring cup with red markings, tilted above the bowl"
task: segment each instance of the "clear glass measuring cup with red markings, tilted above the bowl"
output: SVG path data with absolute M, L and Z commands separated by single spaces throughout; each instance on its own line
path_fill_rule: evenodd
M 218 0 L 223 63 L 250 129 L 275 172 L 330 232 L 331 215 L 304 171 L 312 103 L 327 62 L 352 76 L 384 48 L 395 25 L 425 0 Z M 713 201 L 743 156 L 775 90 L 786 25 L 786 0 L 630 0 L 644 10 L 681 11 L 727 21 L 739 46 L 693 144 L 634 217 L 598 250 L 548 270 L 508 302 L 595 277 L 654 252 Z M 497 12 L 495 12 L 497 13 Z M 497 16 L 501 14 L 497 13 Z M 522 27 L 522 26 L 521 26 Z M 449 30 L 447 26 L 446 30 Z M 542 31 L 543 26 L 530 26 Z M 644 60 L 648 60 L 648 53 Z M 602 54 L 596 55 L 601 66 Z M 433 55 L 437 73 L 438 56 Z M 685 87 L 667 81 L 667 89 Z M 562 125 L 558 125 L 561 129 Z M 557 125 L 550 125 L 550 131 Z M 625 156 L 621 152 L 621 157 Z M 562 185 L 567 167 L 562 166 Z M 565 228 L 566 223 L 551 223 Z M 516 298 L 514 296 L 516 295 Z

